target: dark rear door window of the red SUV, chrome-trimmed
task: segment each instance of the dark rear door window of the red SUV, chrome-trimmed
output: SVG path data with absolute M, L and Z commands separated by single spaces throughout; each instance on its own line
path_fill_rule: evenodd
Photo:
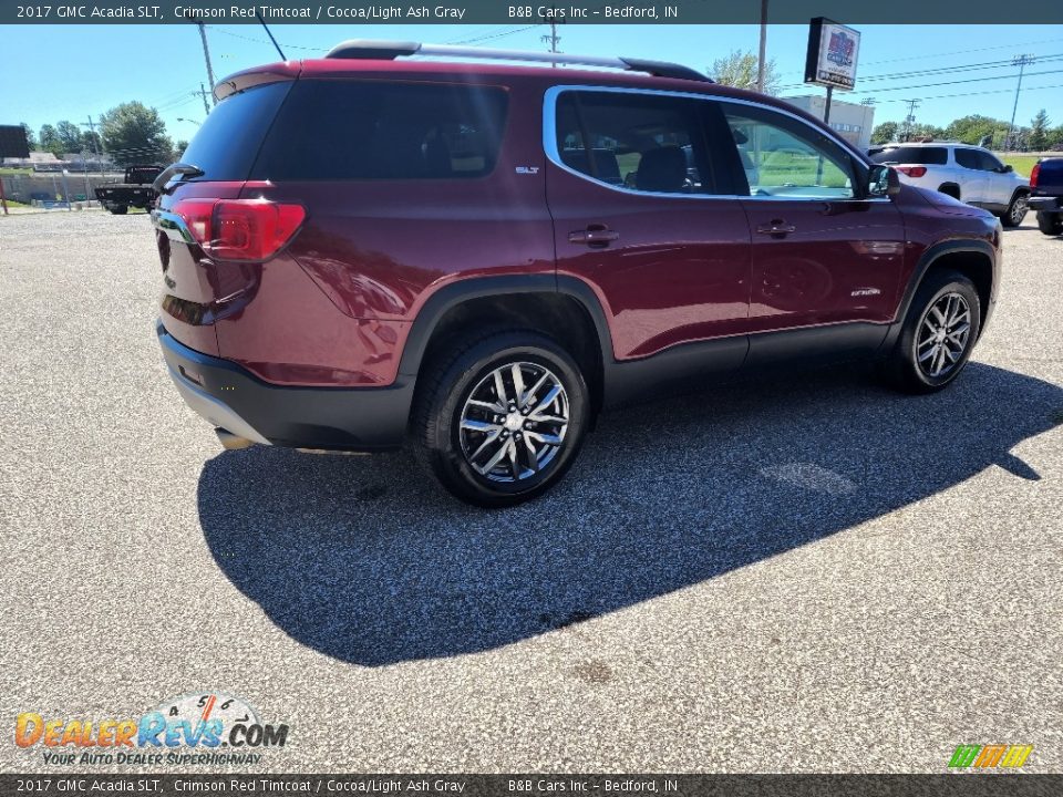
M 653 194 L 712 194 L 699 101 L 566 91 L 557 99 L 557 155 L 569 168 Z

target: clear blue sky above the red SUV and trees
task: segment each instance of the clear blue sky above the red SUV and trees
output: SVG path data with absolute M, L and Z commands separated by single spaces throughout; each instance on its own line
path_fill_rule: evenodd
M 837 100 L 875 100 L 875 123 L 900 121 L 905 100 L 919 99 L 920 123 L 946 125 L 980 113 L 1011 118 L 1019 54 L 1039 56 L 1025 68 L 1016 124 L 1045 108 L 1063 124 L 1063 25 L 863 25 L 857 89 Z M 272 25 L 289 59 L 320 56 L 344 39 L 401 39 L 544 50 L 547 25 Z M 706 71 L 732 50 L 756 51 L 757 25 L 559 25 L 559 50 L 675 61 Z M 822 94 L 804 86 L 807 27 L 768 25 L 783 96 Z M 279 60 L 257 25 L 207 25 L 215 76 Z M 0 124 L 40 131 L 60 120 L 87 122 L 130 100 L 158 110 L 174 141 L 190 138 L 204 118 L 194 93 L 207 82 L 195 25 L 0 25 Z M 18 71 L 10 69 L 18 64 Z M 964 71 L 925 73 L 973 66 Z M 922 74 L 910 74 L 923 72 Z M 1042 74 L 1045 73 L 1045 74 Z M 937 85 L 933 85 L 937 84 Z

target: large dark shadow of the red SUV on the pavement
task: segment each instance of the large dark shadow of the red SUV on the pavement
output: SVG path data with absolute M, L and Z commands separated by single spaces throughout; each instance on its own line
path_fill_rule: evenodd
M 405 453 L 257 446 L 204 467 L 218 566 L 298 642 L 362 665 L 489 650 L 695 584 L 947 489 L 1063 423 L 1063 390 L 971 363 L 901 396 L 861 371 L 605 416 L 547 496 L 487 511 Z

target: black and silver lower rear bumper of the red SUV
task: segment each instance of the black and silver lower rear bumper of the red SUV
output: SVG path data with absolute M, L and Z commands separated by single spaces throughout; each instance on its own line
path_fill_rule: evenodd
M 296 448 L 389 451 L 402 445 L 413 382 L 388 387 L 272 385 L 189 349 L 156 325 L 163 358 L 185 403 L 214 426 L 256 443 Z

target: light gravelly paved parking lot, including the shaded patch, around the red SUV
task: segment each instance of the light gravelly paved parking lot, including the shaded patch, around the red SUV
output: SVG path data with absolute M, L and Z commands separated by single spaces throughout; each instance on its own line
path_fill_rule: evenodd
M 0 716 L 221 691 L 290 725 L 270 772 L 1063 770 L 1063 240 L 1004 238 L 951 390 L 632 407 L 489 513 L 406 453 L 223 452 L 147 217 L 0 218 Z M 0 770 L 49 770 L 11 731 Z

